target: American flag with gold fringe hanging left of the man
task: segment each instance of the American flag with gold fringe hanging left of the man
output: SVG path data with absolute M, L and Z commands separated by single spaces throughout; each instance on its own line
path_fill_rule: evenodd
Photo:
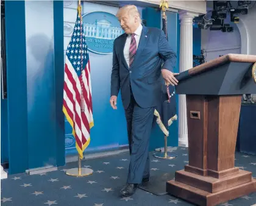
M 77 9 L 73 35 L 66 49 L 63 112 L 73 128 L 79 157 L 83 158 L 83 152 L 90 143 L 90 129 L 94 123 L 91 101 L 90 60 L 87 44 L 85 43 L 80 9 Z

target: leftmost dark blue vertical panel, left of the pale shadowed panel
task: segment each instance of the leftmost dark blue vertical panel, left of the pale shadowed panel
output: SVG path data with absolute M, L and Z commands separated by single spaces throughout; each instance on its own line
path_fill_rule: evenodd
M 5 1 L 5 29 L 9 174 L 15 174 L 28 168 L 24 1 Z

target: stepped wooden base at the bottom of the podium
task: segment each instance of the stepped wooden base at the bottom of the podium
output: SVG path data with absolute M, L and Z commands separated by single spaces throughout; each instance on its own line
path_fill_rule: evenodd
M 251 172 L 240 171 L 222 179 L 188 173 L 177 171 L 176 180 L 166 183 L 167 193 L 196 205 L 214 206 L 256 191 Z

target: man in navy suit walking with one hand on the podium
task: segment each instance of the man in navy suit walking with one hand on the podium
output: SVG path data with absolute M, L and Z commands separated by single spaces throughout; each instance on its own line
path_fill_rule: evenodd
M 167 84 L 177 85 L 172 73 L 176 54 L 162 30 L 141 25 L 135 5 L 122 7 L 116 17 L 125 33 L 113 44 L 110 105 L 117 109 L 121 88 L 130 149 L 127 185 L 121 194 L 131 196 L 141 182 L 149 181 L 149 137 L 162 95 L 161 74 Z

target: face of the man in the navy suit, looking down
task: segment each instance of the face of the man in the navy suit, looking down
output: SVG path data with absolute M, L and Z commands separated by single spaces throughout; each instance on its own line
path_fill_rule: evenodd
M 124 32 L 126 32 L 126 34 L 132 34 L 133 32 L 135 32 L 134 29 L 137 23 L 136 16 L 131 16 L 128 14 L 121 13 L 118 20 L 120 22 L 122 29 L 124 30 Z

